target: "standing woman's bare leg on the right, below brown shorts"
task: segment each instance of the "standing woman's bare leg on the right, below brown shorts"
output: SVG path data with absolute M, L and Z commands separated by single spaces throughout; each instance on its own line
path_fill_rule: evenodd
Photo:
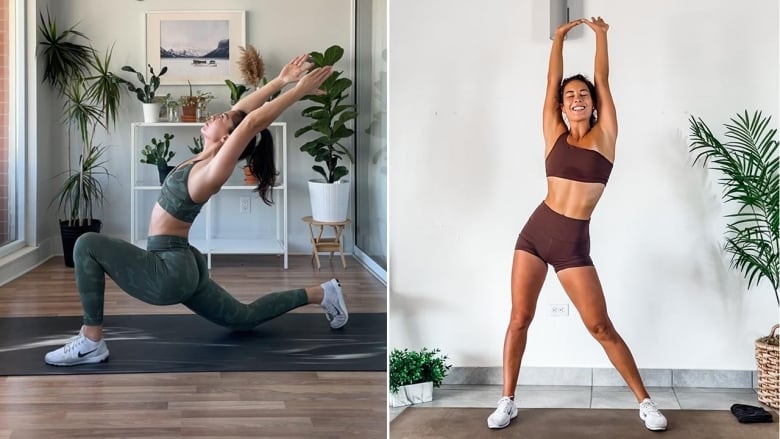
M 607 315 L 604 290 L 601 288 L 596 268 L 588 266 L 564 269 L 558 272 L 558 279 L 579 311 L 588 331 L 601 343 L 615 369 L 634 392 L 637 402 L 648 398 L 634 357 Z

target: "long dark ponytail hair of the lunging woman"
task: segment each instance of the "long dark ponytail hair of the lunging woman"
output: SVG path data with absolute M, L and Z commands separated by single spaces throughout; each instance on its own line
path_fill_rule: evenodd
M 243 111 L 237 111 L 241 120 L 246 117 Z M 238 126 L 234 120 L 234 127 Z M 260 198 L 267 205 L 273 204 L 273 187 L 276 185 L 276 176 L 279 172 L 276 170 L 274 162 L 274 139 L 271 132 L 266 128 L 260 131 L 260 139 L 257 136 L 252 137 L 246 144 L 244 151 L 238 157 L 239 160 L 245 160 L 249 170 L 257 178 L 258 184 L 255 192 L 260 194 Z

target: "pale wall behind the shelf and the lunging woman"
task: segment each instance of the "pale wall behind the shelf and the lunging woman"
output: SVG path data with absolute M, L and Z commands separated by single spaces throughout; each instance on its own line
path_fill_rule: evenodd
M 45 11 L 45 3 L 38 3 Z M 130 76 L 119 72 L 121 66 L 129 64 L 139 70 L 145 65 L 144 13 L 166 10 L 245 10 L 246 42 L 255 46 L 263 57 L 269 77 L 275 76 L 294 56 L 312 50 L 323 51 L 332 44 L 338 44 L 346 51 L 337 67 L 350 77 L 354 71 L 351 0 L 229 0 L 219 4 L 205 0 L 67 0 L 50 3 L 52 15 L 57 18 L 59 26 L 79 23 L 78 29 L 89 36 L 93 45 L 100 50 L 115 43 L 112 67 L 126 78 Z M 38 11 L 30 8 L 29 13 L 37 16 Z M 40 160 L 37 168 L 38 181 L 42 187 L 38 198 L 38 236 L 39 241 L 59 241 L 57 222 L 53 219 L 54 209 L 48 209 L 48 204 L 56 190 L 56 183 L 59 182 L 50 177 L 66 168 L 64 146 L 60 144 L 65 131 L 58 123 L 60 104 L 49 87 L 40 84 L 41 75 L 39 72 L 37 83 L 30 84 L 38 87 L 39 156 L 46 157 L 46 160 Z M 178 96 L 185 94 L 183 92 L 186 87 L 162 86 L 158 94 L 170 92 Z M 212 113 L 229 107 L 229 92 L 225 85 L 197 88 L 211 90 L 217 96 L 209 105 Z M 311 157 L 299 150 L 306 140 L 293 137 L 295 130 L 306 122 L 300 116 L 304 105 L 294 105 L 279 121 L 288 123 L 290 252 L 308 254 L 311 249 L 309 232 L 300 218 L 311 212 L 306 181 L 316 177 L 316 174 L 311 170 Z M 116 131 L 99 139 L 110 145 L 108 167 L 116 178 L 111 179 L 104 187 L 108 204 L 96 216 L 103 219 L 103 233 L 124 239 L 129 239 L 130 234 L 130 124 L 141 121 L 142 118 L 140 102 L 134 95 L 126 94 L 123 97 Z M 182 140 L 186 141 L 188 138 Z M 173 162 L 177 163 L 178 159 L 179 157 L 175 157 Z M 54 207 L 56 208 L 56 205 Z M 347 235 L 345 247 L 351 249 L 351 234 Z

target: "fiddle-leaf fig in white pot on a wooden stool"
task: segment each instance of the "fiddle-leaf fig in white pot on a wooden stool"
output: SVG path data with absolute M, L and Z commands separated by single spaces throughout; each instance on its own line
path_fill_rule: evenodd
M 324 53 L 312 52 L 310 61 L 314 67 L 332 66 L 344 56 L 344 49 L 331 46 Z M 305 99 L 314 104 L 305 108 L 301 115 L 311 122 L 295 132 L 300 137 L 308 132 L 316 134 L 313 140 L 304 143 L 301 151 L 314 158 L 314 172 L 322 179 L 309 180 L 309 197 L 312 217 L 317 221 L 338 222 L 347 218 L 349 206 L 349 174 L 346 166 L 339 163 L 345 156 L 352 163 L 352 153 L 341 143 L 352 137 L 354 131 L 347 124 L 357 117 L 355 106 L 345 103 L 352 87 L 352 80 L 342 78 L 342 72 L 334 71 L 320 87 L 321 95 L 309 95 Z M 316 163 L 323 163 L 320 166 Z

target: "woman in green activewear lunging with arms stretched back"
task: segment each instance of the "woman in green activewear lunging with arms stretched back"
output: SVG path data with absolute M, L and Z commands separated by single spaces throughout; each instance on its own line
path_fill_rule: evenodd
M 47 363 L 73 366 L 108 359 L 103 340 L 106 275 L 139 300 L 153 305 L 181 303 L 209 321 L 234 330 L 251 329 L 306 304 L 325 308 L 333 328 L 347 323 L 347 309 L 336 279 L 310 288 L 267 294 L 243 304 L 211 280 L 204 256 L 188 241 L 201 207 L 219 192 L 240 160 L 248 160 L 259 181 L 257 192 L 271 204 L 277 172 L 267 127 L 303 96 L 322 93 L 319 87 L 331 74 L 330 67 L 309 72 L 312 64 L 307 59 L 307 55 L 294 58 L 274 80 L 203 125 L 203 151 L 179 165 L 163 183 L 152 209 L 146 250 L 97 233 L 87 233 L 76 241 L 73 260 L 84 325 L 65 346 L 46 354 Z M 268 101 L 288 84 L 295 85 Z

